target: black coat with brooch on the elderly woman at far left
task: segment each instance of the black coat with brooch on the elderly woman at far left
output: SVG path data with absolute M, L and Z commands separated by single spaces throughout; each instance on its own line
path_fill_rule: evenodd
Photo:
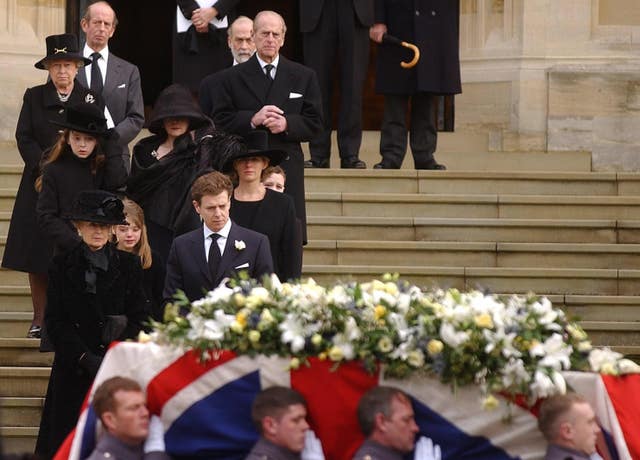
M 101 99 L 93 95 L 78 82 L 66 103 L 58 99 L 52 82 L 34 86 L 24 93 L 22 109 L 16 127 L 16 141 L 24 170 L 11 214 L 11 224 L 7 244 L 2 258 L 2 266 L 29 273 L 46 273 L 53 254 L 53 245 L 40 230 L 36 216 L 38 194 L 34 187 L 40 174 L 39 164 L 42 153 L 49 149 L 58 137 L 60 128 L 49 120 L 62 121 L 64 108 L 80 104 L 88 94 L 101 104 Z

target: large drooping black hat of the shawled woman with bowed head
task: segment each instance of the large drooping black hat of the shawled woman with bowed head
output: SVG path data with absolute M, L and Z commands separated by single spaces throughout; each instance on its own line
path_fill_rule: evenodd
M 186 118 L 189 131 L 206 126 L 209 119 L 202 113 L 191 92 L 183 85 L 175 83 L 162 90 L 153 106 L 153 117 L 148 129 L 154 134 L 164 132 L 162 120 L 165 118 Z

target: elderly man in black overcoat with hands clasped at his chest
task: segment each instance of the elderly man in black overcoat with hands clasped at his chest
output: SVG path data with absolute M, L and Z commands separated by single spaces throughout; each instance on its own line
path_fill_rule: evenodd
M 284 150 L 287 194 L 293 198 L 306 242 L 304 158 L 300 142 L 322 131 L 322 104 L 315 73 L 280 55 L 287 27 L 273 11 L 253 21 L 256 54 L 224 73 L 213 120 L 224 131 L 241 136 L 253 129 L 269 134 L 269 148 Z

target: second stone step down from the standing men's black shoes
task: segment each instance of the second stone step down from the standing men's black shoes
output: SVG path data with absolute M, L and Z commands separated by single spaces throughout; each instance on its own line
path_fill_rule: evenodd
M 640 197 L 308 193 L 309 216 L 638 219 Z

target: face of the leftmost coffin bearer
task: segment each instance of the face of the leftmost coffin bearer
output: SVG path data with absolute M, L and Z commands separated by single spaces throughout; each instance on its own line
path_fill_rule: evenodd
M 127 444 L 144 442 L 149 435 L 149 411 L 144 393 L 119 390 L 113 397 L 115 411 L 102 414 L 109 433 Z

